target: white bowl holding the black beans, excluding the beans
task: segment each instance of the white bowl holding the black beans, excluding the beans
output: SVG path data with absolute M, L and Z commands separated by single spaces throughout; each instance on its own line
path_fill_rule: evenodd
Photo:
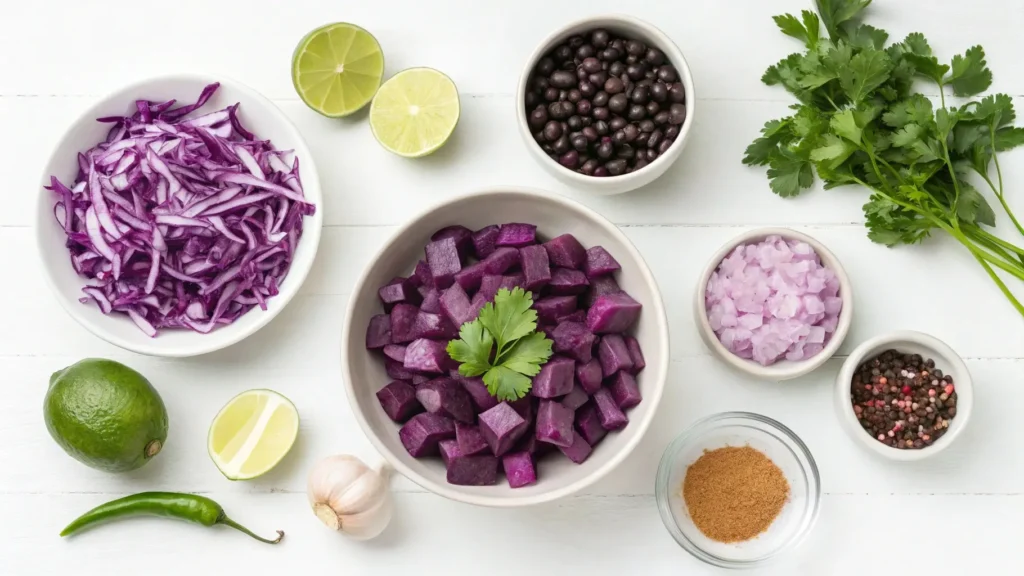
M 538 146 L 534 139 L 534 135 L 529 131 L 529 125 L 526 122 L 526 110 L 523 105 L 526 97 L 526 87 L 529 85 L 530 74 L 534 72 L 534 67 L 537 66 L 537 63 L 544 54 L 561 42 L 564 42 L 570 36 L 597 28 L 603 28 L 627 38 L 642 40 L 648 45 L 654 46 L 665 52 L 666 58 L 675 67 L 676 72 L 679 73 L 679 81 L 682 82 L 683 89 L 686 91 L 686 119 L 679 127 L 679 136 L 676 137 L 676 141 L 669 147 L 669 150 L 665 154 L 655 158 L 650 164 L 636 172 L 621 174 L 618 176 L 595 177 L 581 174 L 569 170 L 548 156 Z M 696 111 L 696 99 L 690 67 L 686 64 L 686 58 L 683 57 L 682 50 L 679 49 L 679 46 L 667 34 L 662 32 L 657 27 L 634 16 L 603 14 L 571 22 L 552 32 L 551 35 L 537 46 L 534 53 L 526 58 L 526 66 L 519 76 L 519 87 L 516 90 L 515 97 L 515 112 L 519 124 L 519 134 L 522 136 L 526 149 L 529 150 L 541 166 L 544 166 L 548 172 L 569 186 L 598 196 L 610 196 L 636 190 L 654 181 L 669 169 L 669 166 L 672 166 L 673 162 L 679 159 L 679 155 L 683 153 L 683 148 L 686 147 L 686 141 L 689 139 L 690 128 L 693 127 L 693 113 Z

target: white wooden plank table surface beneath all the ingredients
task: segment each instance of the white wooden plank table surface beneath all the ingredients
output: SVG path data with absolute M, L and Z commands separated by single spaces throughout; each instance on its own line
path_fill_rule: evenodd
M 688 423 L 723 410 L 781 420 L 817 458 L 821 516 L 773 575 L 1013 573 L 1024 537 L 1024 321 L 963 249 L 939 239 L 888 250 L 867 241 L 854 189 L 795 201 L 773 196 L 762 170 L 740 165 L 765 120 L 791 102 L 762 86 L 765 67 L 798 49 L 770 16 L 810 0 L 128 0 L 6 2 L 0 16 L 0 575 L 43 574 L 713 574 L 662 526 L 653 478 L 662 450 Z M 655 421 L 636 452 L 586 494 L 518 510 L 447 501 L 397 480 L 396 518 L 370 543 L 324 529 L 306 505 L 305 474 L 319 457 L 372 456 L 352 419 L 338 366 L 342 315 L 356 275 L 394 227 L 441 198 L 495 183 L 569 193 L 527 155 L 513 92 L 524 58 L 582 12 L 627 10 L 682 48 L 699 117 L 683 158 L 646 190 L 578 197 L 617 224 L 660 283 L 671 321 L 672 370 Z M 994 88 L 1024 105 L 1024 5 L 1016 0 L 878 0 L 874 26 L 924 32 L 943 57 L 981 43 Z M 387 74 L 412 66 L 459 85 L 456 135 L 433 157 L 407 161 L 373 139 L 365 118 L 323 118 L 289 77 L 303 34 L 347 20 L 380 40 Z M 203 71 L 271 97 L 306 137 L 325 189 L 321 251 L 301 294 L 267 328 L 209 356 L 158 360 L 86 332 L 44 286 L 32 206 L 50 148 L 95 97 L 141 76 Z M 1024 153 L 1004 162 L 1011 202 L 1024 211 Z M 941 457 L 896 465 L 870 457 L 839 427 L 833 382 L 842 358 L 798 381 L 764 383 L 728 371 L 693 328 L 690 299 L 710 254 L 741 229 L 807 230 L 845 263 L 856 292 L 840 357 L 865 338 L 915 329 L 946 340 L 975 377 L 971 427 Z M 1006 231 L 1005 231 L 1006 232 Z M 1020 240 L 1019 238 L 1017 239 Z M 170 412 L 167 447 L 135 472 L 112 476 L 68 457 L 43 425 L 48 375 L 83 357 L 147 374 Z M 284 393 L 302 417 L 299 441 L 266 477 L 232 484 L 206 454 L 207 426 L 251 387 Z M 111 525 L 74 540 L 59 529 L 85 509 L 143 490 L 200 492 L 256 530 L 284 529 L 281 546 L 229 530 L 159 520 Z M 528 564 L 526 564 L 528 563 Z M 579 569 L 579 570 L 573 570 Z

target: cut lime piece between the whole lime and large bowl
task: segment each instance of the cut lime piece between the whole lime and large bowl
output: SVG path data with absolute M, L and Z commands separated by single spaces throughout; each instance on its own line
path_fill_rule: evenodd
M 250 480 L 275 466 L 298 434 L 299 413 L 291 401 L 273 390 L 249 390 L 217 413 L 207 450 L 228 480 Z

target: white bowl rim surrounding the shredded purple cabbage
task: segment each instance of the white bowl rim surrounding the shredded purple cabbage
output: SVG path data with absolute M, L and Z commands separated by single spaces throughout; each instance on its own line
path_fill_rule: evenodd
M 94 123 L 95 119 L 100 116 L 104 116 L 103 110 L 110 106 L 110 104 L 115 99 L 123 99 L 127 105 L 133 102 L 134 100 L 142 97 L 148 89 L 148 87 L 155 83 L 160 82 L 201 82 L 205 84 L 213 84 L 219 82 L 223 88 L 228 88 L 234 92 L 244 93 L 248 98 L 260 101 L 265 108 L 275 112 L 273 122 L 281 126 L 282 130 L 285 130 L 289 134 L 290 148 L 294 151 L 296 158 L 301 159 L 301 170 L 302 170 L 302 184 L 303 191 L 306 197 L 316 205 L 316 212 L 311 216 L 305 216 L 303 218 L 302 228 L 302 238 L 299 240 L 299 245 L 302 246 L 303 250 L 309 251 L 308 258 L 294 258 L 292 260 L 292 265 L 288 272 L 288 278 L 282 284 L 280 293 L 273 298 L 267 300 L 268 303 L 272 302 L 274 305 L 269 305 L 266 311 L 260 310 L 258 306 L 250 310 L 248 313 L 243 315 L 244 318 L 249 315 L 259 315 L 259 319 L 252 326 L 247 327 L 244 330 L 236 330 L 230 333 L 230 328 L 233 325 L 223 326 L 211 332 L 211 334 L 200 334 L 198 332 L 194 333 L 195 344 L 187 346 L 179 346 L 176 348 L 167 347 L 160 341 L 160 336 L 152 338 L 144 342 L 135 342 L 127 340 L 117 334 L 103 328 L 101 325 L 92 322 L 91 320 L 83 316 L 83 311 L 73 305 L 71 301 L 66 300 L 60 296 L 60 288 L 57 286 L 56 279 L 51 274 L 48 266 L 43 265 L 43 276 L 46 278 L 46 283 L 49 285 L 50 289 L 53 291 L 56 300 L 60 303 L 61 307 L 75 319 L 84 328 L 99 336 L 103 340 L 120 346 L 122 348 L 135 352 L 138 354 L 143 354 L 147 356 L 155 357 L 165 357 L 165 358 L 182 358 L 190 356 L 199 356 L 203 354 L 208 354 L 215 352 L 229 345 L 236 344 L 244 338 L 252 335 L 258 331 L 263 326 L 266 326 L 273 318 L 285 307 L 286 304 L 292 299 L 302 283 L 305 281 L 306 276 L 309 274 L 309 270 L 312 268 L 313 260 L 315 259 L 316 249 L 319 246 L 321 229 L 323 228 L 324 220 L 324 202 L 323 195 L 321 192 L 319 175 L 316 171 L 316 165 L 313 163 L 312 154 L 309 152 L 309 148 L 306 146 L 305 139 L 303 139 L 302 134 L 299 132 L 298 128 L 292 124 L 291 120 L 276 106 L 273 105 L 266 96 L 260 94 L 253 88 L 250 88 L 246 84 L 239 82 L 238 80 L 231 79 L 224 75 L 218 74 L 217 77 L 213 77 L 207 74 L 195 74 L 195 73 L 172 73 L 172 74 L 161 74 L 159 76 L 153 76 L 137 80 L 126 86 L 122 86 L 106 95 L 96 98 L 93 104 L 87 108 L 84 112 L 78 115 L 75 120 L 69 125 L 70 127 L 75 127 L 87 123 Z M 191 101 L 187 98 L 198 96 L 199 92 L 195 94 L 182 94 L 179 98 L 180 101 Z M 207 105 L 209 106 L 209 105 Z M 243 114 L 246 114 L 243 111 Z M 69 131 L 71 128 L 69 128 Z M 53 165 L 57 159 L 57 155 L 60 154 L 61 148 L 63 148 L 65 139 L 68 137 L 66 132 L 61 135 L 53 148 L 50 151 L 49 156 L 46 161 L 46 168 L 48 169 Z M 76 151 L 79 152 L 79 151 Z M 49 194 L 47 191 L 43 190 L 44 186 L 49 186 L 50 174 L 44 173 L 42 175 L 42 180 L 39 186 L 39 194 Z M 54 201 L 55 202 L 55 201 Z M 44 230 L 40 225 L 45 218 L 52 219 L 52 204 L 46 202 L 36 202 L 36 214 L 35 214 L 35 228 L 37 239 L 43 234 L 48 234 L 49 231 Z M 50 206 L 50 208 L 44 209 L 45 206 Z M 36 250 L 39 254 L 39 261 L 45 261 L 44 256 L 39 251 L 42 250 L 42 243 L 37 240 Z M 298 253 L 298 250 L 296 250 Z M 71 263 L 68 262 L 67 265 L 70 268 Z M 78 304 L 78 302 L 74 302 Z M 219 338 L 210 338 L 212 334 L 220 333 Z M 224 336 L 222 334 L 230 333 L 229 336 Z

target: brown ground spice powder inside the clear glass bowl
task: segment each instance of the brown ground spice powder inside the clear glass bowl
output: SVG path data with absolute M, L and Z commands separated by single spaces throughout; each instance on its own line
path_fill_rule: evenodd
M 788 497 L 782 470 L 750 446 L 705 450 L 683 480 L 693 524 L 719 542 L 750 540 L 768 530 Z

